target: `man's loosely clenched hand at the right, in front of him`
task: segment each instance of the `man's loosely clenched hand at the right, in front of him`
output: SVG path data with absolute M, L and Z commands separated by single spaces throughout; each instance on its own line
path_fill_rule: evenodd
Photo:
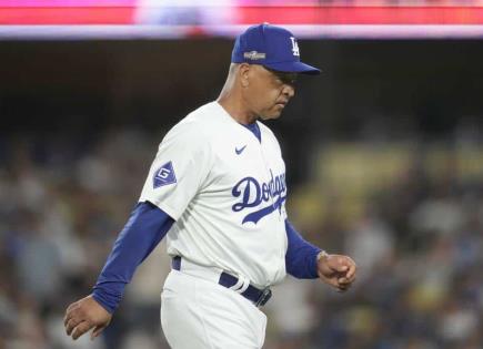
M 339 291 L 345 291 L 355 280 L 358 266 L 351 257 L 321 254 L 318 260 L 319 277 Z

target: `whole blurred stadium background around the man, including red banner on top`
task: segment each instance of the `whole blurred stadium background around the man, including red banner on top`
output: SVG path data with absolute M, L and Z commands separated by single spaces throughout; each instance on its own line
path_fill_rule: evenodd
M 90 291 L 164 133 L 218 96 L 231 34 L 246 23 L 191 23 L 200 9 L 179 7 L 159 30 L 152 19 L 92 27 L 135 1 L 90 1 L 97 21 L 82 17 L 89 9 L 59 17 L 76 1 L 33 2 L 0 1 L 0 348 L 168 348 L 164 244 L 102 339 L 71 341 L 63 310 Z M 290 4 L 240 2 L 279 14 Z M 282 117 L 268 122 L 288 164 L 292 220 L 308 239 L 353 256 L 360 276 L 344 295 L 290 277 L 275 287 L 264 348 L 481 349 L 482 3 L 310 2 L 320 13 L 392 13 L 364 12 L 374 16 L 335 31 L 320 16 L 291 23 L 303 60 L 323 74 L 301 76 Z M 431 25 L 394 14 L 407 9 L 432 13 Z M 465 11 L 463 27 L 447 9 Z M 359 27 L 374 20 L 388 27 Z

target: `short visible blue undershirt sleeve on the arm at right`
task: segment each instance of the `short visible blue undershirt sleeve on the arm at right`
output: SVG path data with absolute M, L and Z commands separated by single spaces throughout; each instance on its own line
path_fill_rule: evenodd
M 299 279 L 319 278 L 316 256 L 321 249 L 305 242 L 289 219 L 285 219 L 285 230 L 289 242 L 285 254 L 286 273 Z

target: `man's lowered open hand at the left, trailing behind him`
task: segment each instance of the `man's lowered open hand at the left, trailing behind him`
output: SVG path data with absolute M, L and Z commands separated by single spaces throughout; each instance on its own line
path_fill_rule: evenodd
M 108 327 L 112 315 L 108 312 L 92 295 L 71 304 L 63 318 L 68 336 L 76 340 L 93 328 L 91 339 L 98 337 Z

